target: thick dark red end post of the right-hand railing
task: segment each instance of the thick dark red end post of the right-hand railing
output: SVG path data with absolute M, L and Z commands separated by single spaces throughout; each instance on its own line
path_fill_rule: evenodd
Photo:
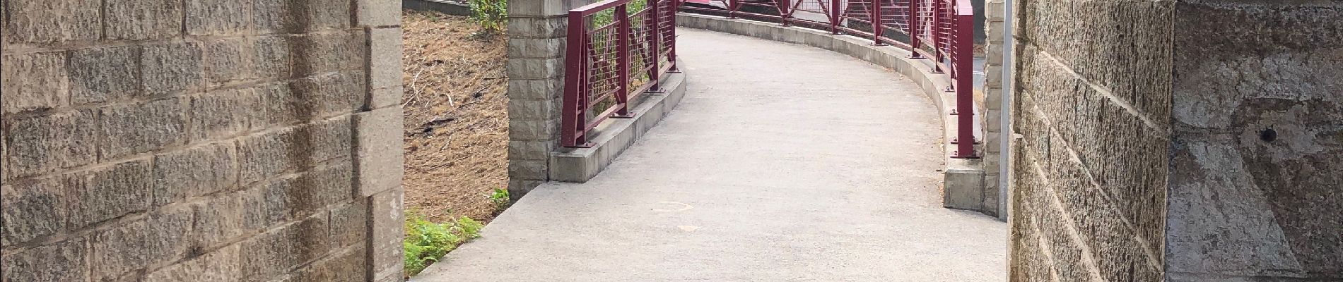
M 954 21 L 951 31 L 956 36 L 951 45 L 955 48 L 952 52 L 956 57 L 948 59 L 952 64 L 954 74 L 970 74 L 975 67 L 974 48 L 974 15 L 958 15 Z M 956 84 L 956 154 L 952 158 L 958 159 L 975 159 L 975 102 L 974 102 L 974 80 L 972 75 L 960 75 L 955 79 Z

